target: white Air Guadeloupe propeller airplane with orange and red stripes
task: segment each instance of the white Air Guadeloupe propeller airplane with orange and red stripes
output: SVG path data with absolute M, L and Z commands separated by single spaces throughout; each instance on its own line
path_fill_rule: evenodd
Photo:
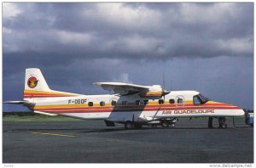
M 5 104 L 21 104 L 34 113 L 63 115 L 84 120 L 104 120 L 125 129 L 143 125 L 173 126 L 177 118 L 218 118 L 219 128 L 227 128 L 225 117 L 241 116 L 244 111 L 236 105 L 218 103 L 196 91 L 167 91 L 160 85 L 143 86 L 123 82 L 96 82 L 96 86 L 113 92 L 102 95 L 82 95 L 51 90 L 41 70 L 26 69 L 24 98 Z M 235 125 L 234 125 L 235 126 Z

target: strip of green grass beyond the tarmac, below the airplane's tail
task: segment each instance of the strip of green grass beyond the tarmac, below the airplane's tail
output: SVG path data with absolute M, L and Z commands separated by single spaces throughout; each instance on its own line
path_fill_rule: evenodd
M 64 116 L 49 116 L 49 115 L 5 115 L 3 121 L 69 121 L 69 120 L 80 120 Z

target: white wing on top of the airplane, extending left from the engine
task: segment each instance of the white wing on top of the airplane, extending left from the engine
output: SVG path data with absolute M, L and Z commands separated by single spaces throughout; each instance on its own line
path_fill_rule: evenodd
M 148 86 L 134 85 L 130 83 L 122 82 L 96 82 L 96 86 L 102 87 L 105 90 L 113 91 L 114 93 L 119 93 L 121 95 L 130 95 L 140 92 L 148 92 Z

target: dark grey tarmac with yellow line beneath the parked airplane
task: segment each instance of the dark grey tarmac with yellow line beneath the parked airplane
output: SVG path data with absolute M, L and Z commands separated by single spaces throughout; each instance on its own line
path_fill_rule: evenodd
M 253 127 L 238 122 L 238 129 L 231 119 L 227 129 L 197 119 L 125 130 L 102 120 L 3 121 L 3 163 L 253 163 Z

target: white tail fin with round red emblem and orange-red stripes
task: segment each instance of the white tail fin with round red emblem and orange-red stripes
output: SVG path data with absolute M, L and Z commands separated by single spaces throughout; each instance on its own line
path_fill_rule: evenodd
M 30 98 L 55 98 L 71 96 L 79 96 L 79 94 L 51 90 L 48 87 L 41 70 L 37 68 L 26 69 L 24 100 L 28 100 Z

